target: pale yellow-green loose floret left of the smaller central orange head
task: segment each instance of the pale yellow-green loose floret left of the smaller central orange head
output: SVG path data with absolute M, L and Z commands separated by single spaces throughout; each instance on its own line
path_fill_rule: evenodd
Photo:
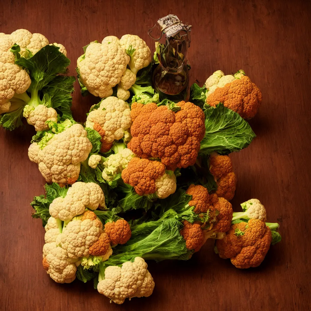
M 134 157 L 132 150 L 125 148 L 120 152 L 110 155 L 103 163 L 104 170 L 102 177 L 105 180 L 112 180 L 115 174 L 121 173 L 123 169 L 128 167 L 129 161 Z

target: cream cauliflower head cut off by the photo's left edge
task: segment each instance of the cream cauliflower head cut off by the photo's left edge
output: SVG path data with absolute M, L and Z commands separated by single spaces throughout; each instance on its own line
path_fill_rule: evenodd
M 24 93 L 31 84 L 26 70 L 14 64 L 15 56 L 10 52 L 14 43 L 11 35 L 0 34 L 0 114 L 9 112 L 10 99 L 15 93 Z

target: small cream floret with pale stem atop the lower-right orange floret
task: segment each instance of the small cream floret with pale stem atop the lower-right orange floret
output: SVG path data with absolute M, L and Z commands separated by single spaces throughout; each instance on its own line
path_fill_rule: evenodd
M 267 220 L 267 212 L 265 207 L 258 199 L 250 199 L 241 204 L 243 212 L 233 213 L 232 220 L 236 219 L 259 219 L 262 221 Z

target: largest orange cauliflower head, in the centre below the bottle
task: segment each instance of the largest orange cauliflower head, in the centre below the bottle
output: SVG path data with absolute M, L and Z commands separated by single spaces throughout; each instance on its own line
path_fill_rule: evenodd
M 174 113 L 155 103 L 131 106 L 132 139 L 128 148 L 141 158 L 159 158 L 171 170 L 193 165 L 205 135 L 205 116 L 201 108 L 188 102 L 177 104 Z

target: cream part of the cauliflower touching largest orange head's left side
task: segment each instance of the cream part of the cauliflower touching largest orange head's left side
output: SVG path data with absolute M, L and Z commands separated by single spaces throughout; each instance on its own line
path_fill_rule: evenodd
M 121 139 L 126 130 L 132 125 L 131 110 L 124 100 L 110 96 L 102 100 L 100 107 L 89 113 L 86 118 L 86 127 L 94 128 L 94 124 L 104 131 L 102 142 L 112 143 Z

